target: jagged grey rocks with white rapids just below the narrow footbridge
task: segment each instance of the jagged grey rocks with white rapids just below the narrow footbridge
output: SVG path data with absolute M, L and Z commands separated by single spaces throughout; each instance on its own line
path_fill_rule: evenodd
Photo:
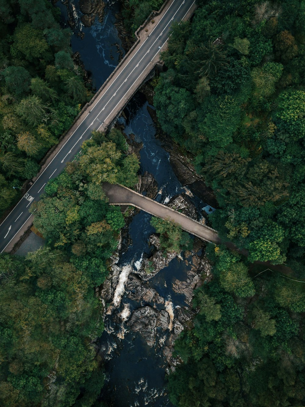
M 177 195 L 172 200 L 180 199 L 181 195 Z M 188 210 L 187 205 L 183 209 Z M 129 236 L 124 236 L 124 233 L 126 229 L 122 241 L 130 242 Z M 167 367 L 174 368 L 176 363 L 179 363 L 179 360 L 172 357 L 174 341 L 183 329 L 190 326 L 190 319 L 196 312 L 192 309 L 194 289 L 209 276 L 211 266 L 204 256 L 205 243 L 200 239 L 194 239 L 192 251 L 168 253 L 165 257 L 160 249 L 157 234 L 151 234 L 149 241 L 152 252 L 149 257 L 146 256 L 139 264 L 135 264 L 136 271 L 131 265 L 118 266 L 121 251 L 124 250 L 124 246 L 120 246 L 117 256 L 113 257 L 111 272 L 100 291 L 100 298 L 105 304 L 108 303 L 105 307 L 107 318 L 111 318 L 120 326 L 117 332 L 120 339 L 124 339 L 129 330 L 139 333 L 149 347 L 161 350 L 168 363 Z M 168 267 L 173 259 L 184 263 L 187 269 L 185 279 L 174 278 L 172 287 L 169 287 L 183 297 L 179 302 L 181 305 L 178 306 L 171 298 L 164 298 L 154 281 L 159 271 Z M 132 307 L 128 302 L 121 305 L 123 295 L 124 301 L 132 301 Z M 105 354 L 111 354 L 107 347 Z

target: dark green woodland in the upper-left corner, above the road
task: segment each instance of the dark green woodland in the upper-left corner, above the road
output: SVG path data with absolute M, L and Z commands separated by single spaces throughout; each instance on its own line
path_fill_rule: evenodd
M 92 94 L 47 0 L 0 2 L 0 216 Z

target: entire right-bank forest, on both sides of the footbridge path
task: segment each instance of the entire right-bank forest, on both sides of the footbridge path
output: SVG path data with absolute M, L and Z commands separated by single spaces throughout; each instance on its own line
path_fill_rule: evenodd
M 176 406 L 296 406 L 305 400 L 305 2 L 198 0 L 173 24 L 154 103 L 216 195 L 213 278 L 175 344 Z M 272 265 L 285 263 L 281 275 Z

